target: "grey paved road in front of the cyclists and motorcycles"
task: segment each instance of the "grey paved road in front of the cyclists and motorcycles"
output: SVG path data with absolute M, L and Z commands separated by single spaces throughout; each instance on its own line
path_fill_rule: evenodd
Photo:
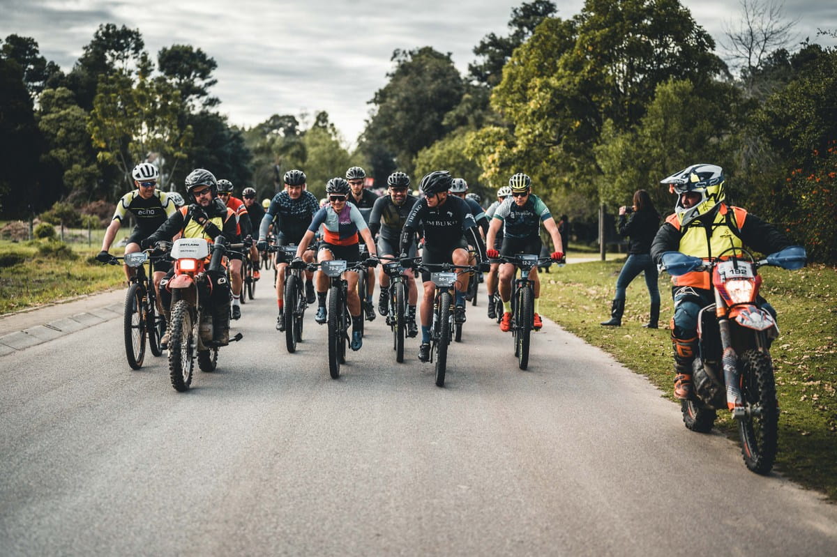
M 439 389 L 378 317 L 332 381 L 259 287 L 184 394 L 119 319 L 0 356 L 0 553 L 834 554 L 837 508 L 556 324 L 517 370 L 480 304 Z

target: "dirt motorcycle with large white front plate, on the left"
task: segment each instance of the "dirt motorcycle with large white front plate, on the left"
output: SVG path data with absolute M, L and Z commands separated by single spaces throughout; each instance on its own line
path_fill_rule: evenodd
M 228 248 L 243 247 L 244 244 L 228 245 L 223 236 L 215 238 L 212 244 L 203 238 L 180 238 L 172 244 L 174 275 L 167 284 L 172 293 L 168 369 L 176 391 L 187 391 L 191 386 L 194 360 L 198 360 L 202 371 L 212 371 L 218 365 L 213 314 L 208 304 L 212 284 L 207 272 L 223 270 L 221 261 Z M 206 267 L 205 258 L 210 253 L 212 257 Z M 223 279 L 229 281 L 229 275 Z M 242 337 L 239 333 L 229 341 L 236 342 Z

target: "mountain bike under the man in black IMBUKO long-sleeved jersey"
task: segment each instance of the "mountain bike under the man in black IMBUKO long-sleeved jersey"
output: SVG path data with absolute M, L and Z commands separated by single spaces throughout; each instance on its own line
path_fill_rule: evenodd
M 479 268 L 454 263 L 419 264 L 419 271 L 430 273 L 434 284 L 433 321 L 430 326 L 430 361 L 436 364 L 436 386 L 444 386 L 448 365 L 448 345 L 454 331 L 454 287 L 459 280 L 455 271 L 475 273 Z M 438 269 L 434 271 L 434 269 Z

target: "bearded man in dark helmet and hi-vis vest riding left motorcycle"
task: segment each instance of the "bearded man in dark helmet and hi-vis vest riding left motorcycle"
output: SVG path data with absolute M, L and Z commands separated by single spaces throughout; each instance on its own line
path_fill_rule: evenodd
M 215 180 L 212 172 L 203 168 L 190 172 L 186 176 L 186 196 L 192 203 L 173 212 L 172 216 L 157 228 L 157 231 L 142 240 L 143 248 L 151 248 L 161 240 L 171 240 L 177 234 L 181 234 L 182 238 L 204 238 L 210 243 L 221 235 L 228 242 L 234 242 L 238 238 L 235 212 L 218 198 L 218 181 Z M 163 287 L 160 289 L 160 298 L 167 320 L 172 304 L 172 294 L 165 286 L 172 276 L 174 276 L 173 268 L 160 283 Z M 207 276 L 211 283 L 211 289 L 207 295 L 213 317 L 213 344 L 226 346 L 229 344 L 230 299 L 227 273 L 223 270 L 207 271 Z M 166 336 L 163 337 L 163 341 L 168 342 Z

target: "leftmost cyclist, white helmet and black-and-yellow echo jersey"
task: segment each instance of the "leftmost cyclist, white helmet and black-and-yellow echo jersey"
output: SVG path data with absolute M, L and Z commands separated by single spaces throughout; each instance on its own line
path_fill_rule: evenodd
M 96 259 L 102 263 L 110 261 L 110 253 L 108 253 L 110 244 L 116 238 L 116 233 L 122 226 L 122 221 L 128 216 L 128 212 L 134 215 L 136 226 L 131 231 L 131 236 L 128 237 L 125 253 L 140 251 L 142 238 L 146 238 L 157 230 L 175 212 L 175 205 L 170 194 L 157 190 L 157 181 L 160 179 L 160 171 L 157 170 L 157 166 L 150 162 L 141 162 L 134 166 L 131 171 L 131 178 L 134 179 L 136 189 L 126 193 L 116 203 L 116 212 L 113 213 L 113 218 L 105 230 L 105 238 L 102 240 L 102 250 L 96 255 Z M 172 264 L 167 261 L 154 263 L 152 280 L 158 294 L 160 292 L 160 281 L 171 267 Z M 130 281 L 134 269 L 127 265 L 124 268 L 126 279 Z M 160 299 L 159 295 L 157 299 Z

